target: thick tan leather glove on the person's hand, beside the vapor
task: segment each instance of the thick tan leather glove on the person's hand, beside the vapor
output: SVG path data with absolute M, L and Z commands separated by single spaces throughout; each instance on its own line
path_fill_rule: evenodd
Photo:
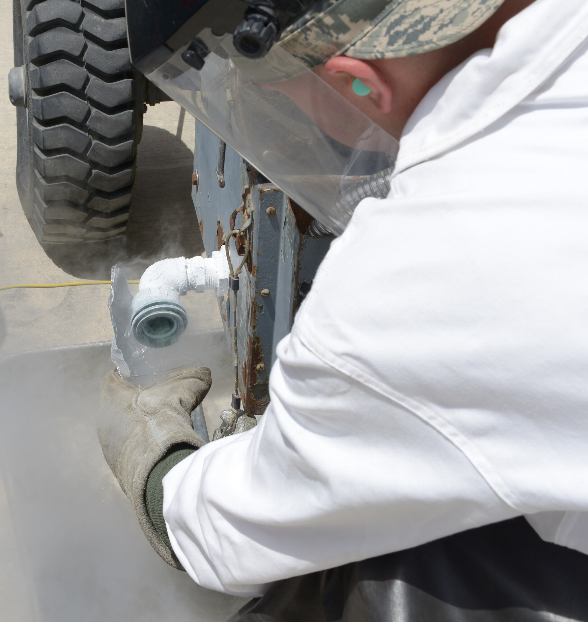
M 182 569 L 173 551 L 155 531 L 145 507 L 149 473 L 170 447 L 198 449 L 204 441 L 192 428 L 190 413 L 211 386 L 206 367 L 181 369 L 145 388 L 109 371 L 100 384 L 98 439 L 122 490 L 135 508 L 147 540 L 168 564 Z

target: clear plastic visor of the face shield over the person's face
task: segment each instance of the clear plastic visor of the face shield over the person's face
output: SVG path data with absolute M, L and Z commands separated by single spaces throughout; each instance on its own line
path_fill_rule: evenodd
M 199 35 L 200 70 L 179 49 L 147 75 L 334 234 L 362 198 L 385 197 L 398 141 L 274 45 L 239 54 L 231 35 Z

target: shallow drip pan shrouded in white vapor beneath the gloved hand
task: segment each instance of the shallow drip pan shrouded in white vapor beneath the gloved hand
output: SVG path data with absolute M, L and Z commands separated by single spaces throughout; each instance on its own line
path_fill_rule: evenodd
M 207 352 L 212 431 L 231 394 L 223 330 L 186 337 Z M 200 588 L 140 530 L 96 437 L 110 342 L 0 361 L 0 461 L 19 561 L 38 622 L 224 622 L 246 600 Z M 228 396 L 228 397 L 227 397 Z

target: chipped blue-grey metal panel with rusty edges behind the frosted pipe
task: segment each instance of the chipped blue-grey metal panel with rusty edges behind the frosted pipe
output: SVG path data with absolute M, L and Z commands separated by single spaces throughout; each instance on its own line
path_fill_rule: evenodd
M 198 181 L 192 197 L 207 255 L 218 250 L 232 230 L 231 216 L 237 227 L 241 224 L 241 214 L 234 214 L 239 205 L 246 201 L 253 209 L 250 259 L 237 292 L 237 346 L 242 407 L 247 414 L 260 415 L 269 403 L 275 346 L 290 332 L 331 239 L 301 233 L 305 226 L 300 222 L 300 208 L 293 210 L 279 188 L 252 170 L 230 147 L 225 149 L 219 138 L 198 122 L 194 161 Z M 232 239 L 229 250 L 236 266 L 241 258 Z M 219 308 L 232 351 L 228 296 L 219 300 Z

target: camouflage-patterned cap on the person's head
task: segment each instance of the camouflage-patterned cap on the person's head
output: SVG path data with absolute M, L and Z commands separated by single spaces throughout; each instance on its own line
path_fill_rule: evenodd
M 329 58 L 430 52 L 483 24 L 504 0 L 322 0 L 278 45 L 314 68 Z

